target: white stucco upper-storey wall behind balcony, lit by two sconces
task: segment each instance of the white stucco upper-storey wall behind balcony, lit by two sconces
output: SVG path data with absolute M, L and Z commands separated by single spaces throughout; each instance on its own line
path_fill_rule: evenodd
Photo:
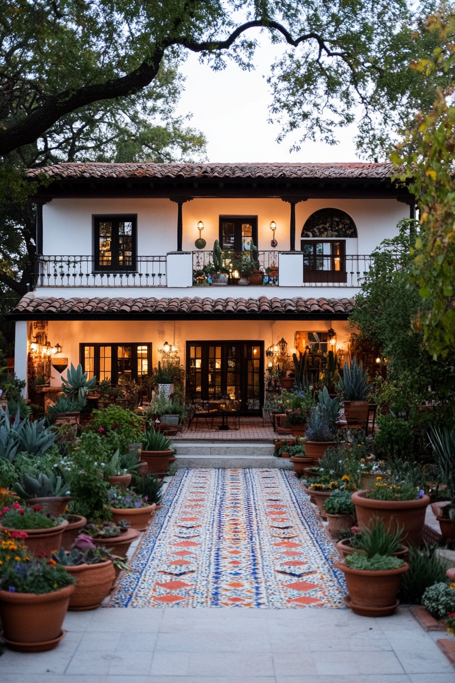
M 369 254 L 384 238 L 396 234 L 396 223 L 409 217 L 409 207 L 396 199 L 309 199 L 295 207 L 295 246 L 308 217 L 321 208 L 339 208 L 357 225 L 357 240 L 347 240 L 347 253 Z M 53 199 L 43 207 L 43 251 L 46 255 L 91 255 L 92 214 L 136 213 L 138 255 L 165 255 L 177 249 L 177 204 L 169 199 Z M 193 199 L 183 206 L 184 251 L 193 251 L 203 221 L 206 249 L 218 239 L 220 214 L 257 215 L 259 249 L 271 249 L 270 222 L 276 221 L 276 251 L 289 249 L 290 206 L 281 199 Z

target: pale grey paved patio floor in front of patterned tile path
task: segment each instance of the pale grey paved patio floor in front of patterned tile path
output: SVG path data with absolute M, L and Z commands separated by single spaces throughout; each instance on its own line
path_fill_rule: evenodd
M 68 613 L 56 650 L 5 651 L 1 683 L 454 683 L 407 607 L 104 609 Z

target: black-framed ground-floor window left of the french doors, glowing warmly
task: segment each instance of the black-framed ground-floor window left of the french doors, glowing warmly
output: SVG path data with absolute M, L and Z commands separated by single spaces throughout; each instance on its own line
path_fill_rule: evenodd
M 89 378 L 95 376 L 98 382 L 111 380 L 117 385 L 121 378 L 126 381 L 141 380 L 149 376 L 151 368 L 151 344 L 80 344 L 80 365 Z

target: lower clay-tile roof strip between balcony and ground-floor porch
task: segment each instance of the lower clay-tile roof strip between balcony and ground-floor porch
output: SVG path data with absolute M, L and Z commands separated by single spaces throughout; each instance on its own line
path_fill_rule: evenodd
M 347 320 L 353 298 L 56 298 L 26 294 L 13 320 Z

